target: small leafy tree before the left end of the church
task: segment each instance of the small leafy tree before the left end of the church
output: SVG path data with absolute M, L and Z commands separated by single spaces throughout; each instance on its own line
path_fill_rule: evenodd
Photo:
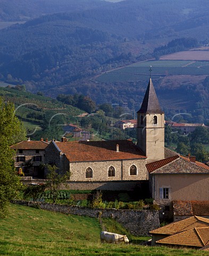
M 53 204 L 56 203 L 58 190 L 60 190 L 61 185 L 66 186 L 66 181 L 70 178 L 70 172 L 64 174 L 58 172 L 56 165 L 46 165 L 47 168 L 47 182 L 46 187 L 50 190 L 51 198 Z

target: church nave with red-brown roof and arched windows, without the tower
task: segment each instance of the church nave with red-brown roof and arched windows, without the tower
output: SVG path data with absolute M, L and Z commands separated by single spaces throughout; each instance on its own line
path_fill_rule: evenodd
M 70 171 L 74 181 L 146 180 L 146 156 L 129 140 L 52 141 L 45 163 Z

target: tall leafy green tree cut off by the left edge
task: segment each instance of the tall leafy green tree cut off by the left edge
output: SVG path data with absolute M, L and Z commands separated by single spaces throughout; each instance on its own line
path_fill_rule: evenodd
M 9 202 L 18 194 L 20 178 L 14 168 L 14 150 L 10 146 L 19 137 L 22 127 L 14 115 L 14 105 L 0 98 L 0 218 L 5 218 Z

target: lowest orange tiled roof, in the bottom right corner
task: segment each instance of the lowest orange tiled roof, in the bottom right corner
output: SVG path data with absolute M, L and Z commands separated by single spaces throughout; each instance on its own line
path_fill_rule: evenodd
M 156 241 L 156 244 L 203 247 L 208 245 L 209 227 L 193 228 Z

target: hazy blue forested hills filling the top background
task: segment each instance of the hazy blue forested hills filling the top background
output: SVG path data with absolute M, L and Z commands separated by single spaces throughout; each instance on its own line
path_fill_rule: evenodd
M 0 0 L 0 8 L 30 19 L 0 30 L 0 79 L 33 92 L 152 58 L 175 38 L 209 38 L 207 0 Z M 31 19 L 47 12 L 56 13 Z

